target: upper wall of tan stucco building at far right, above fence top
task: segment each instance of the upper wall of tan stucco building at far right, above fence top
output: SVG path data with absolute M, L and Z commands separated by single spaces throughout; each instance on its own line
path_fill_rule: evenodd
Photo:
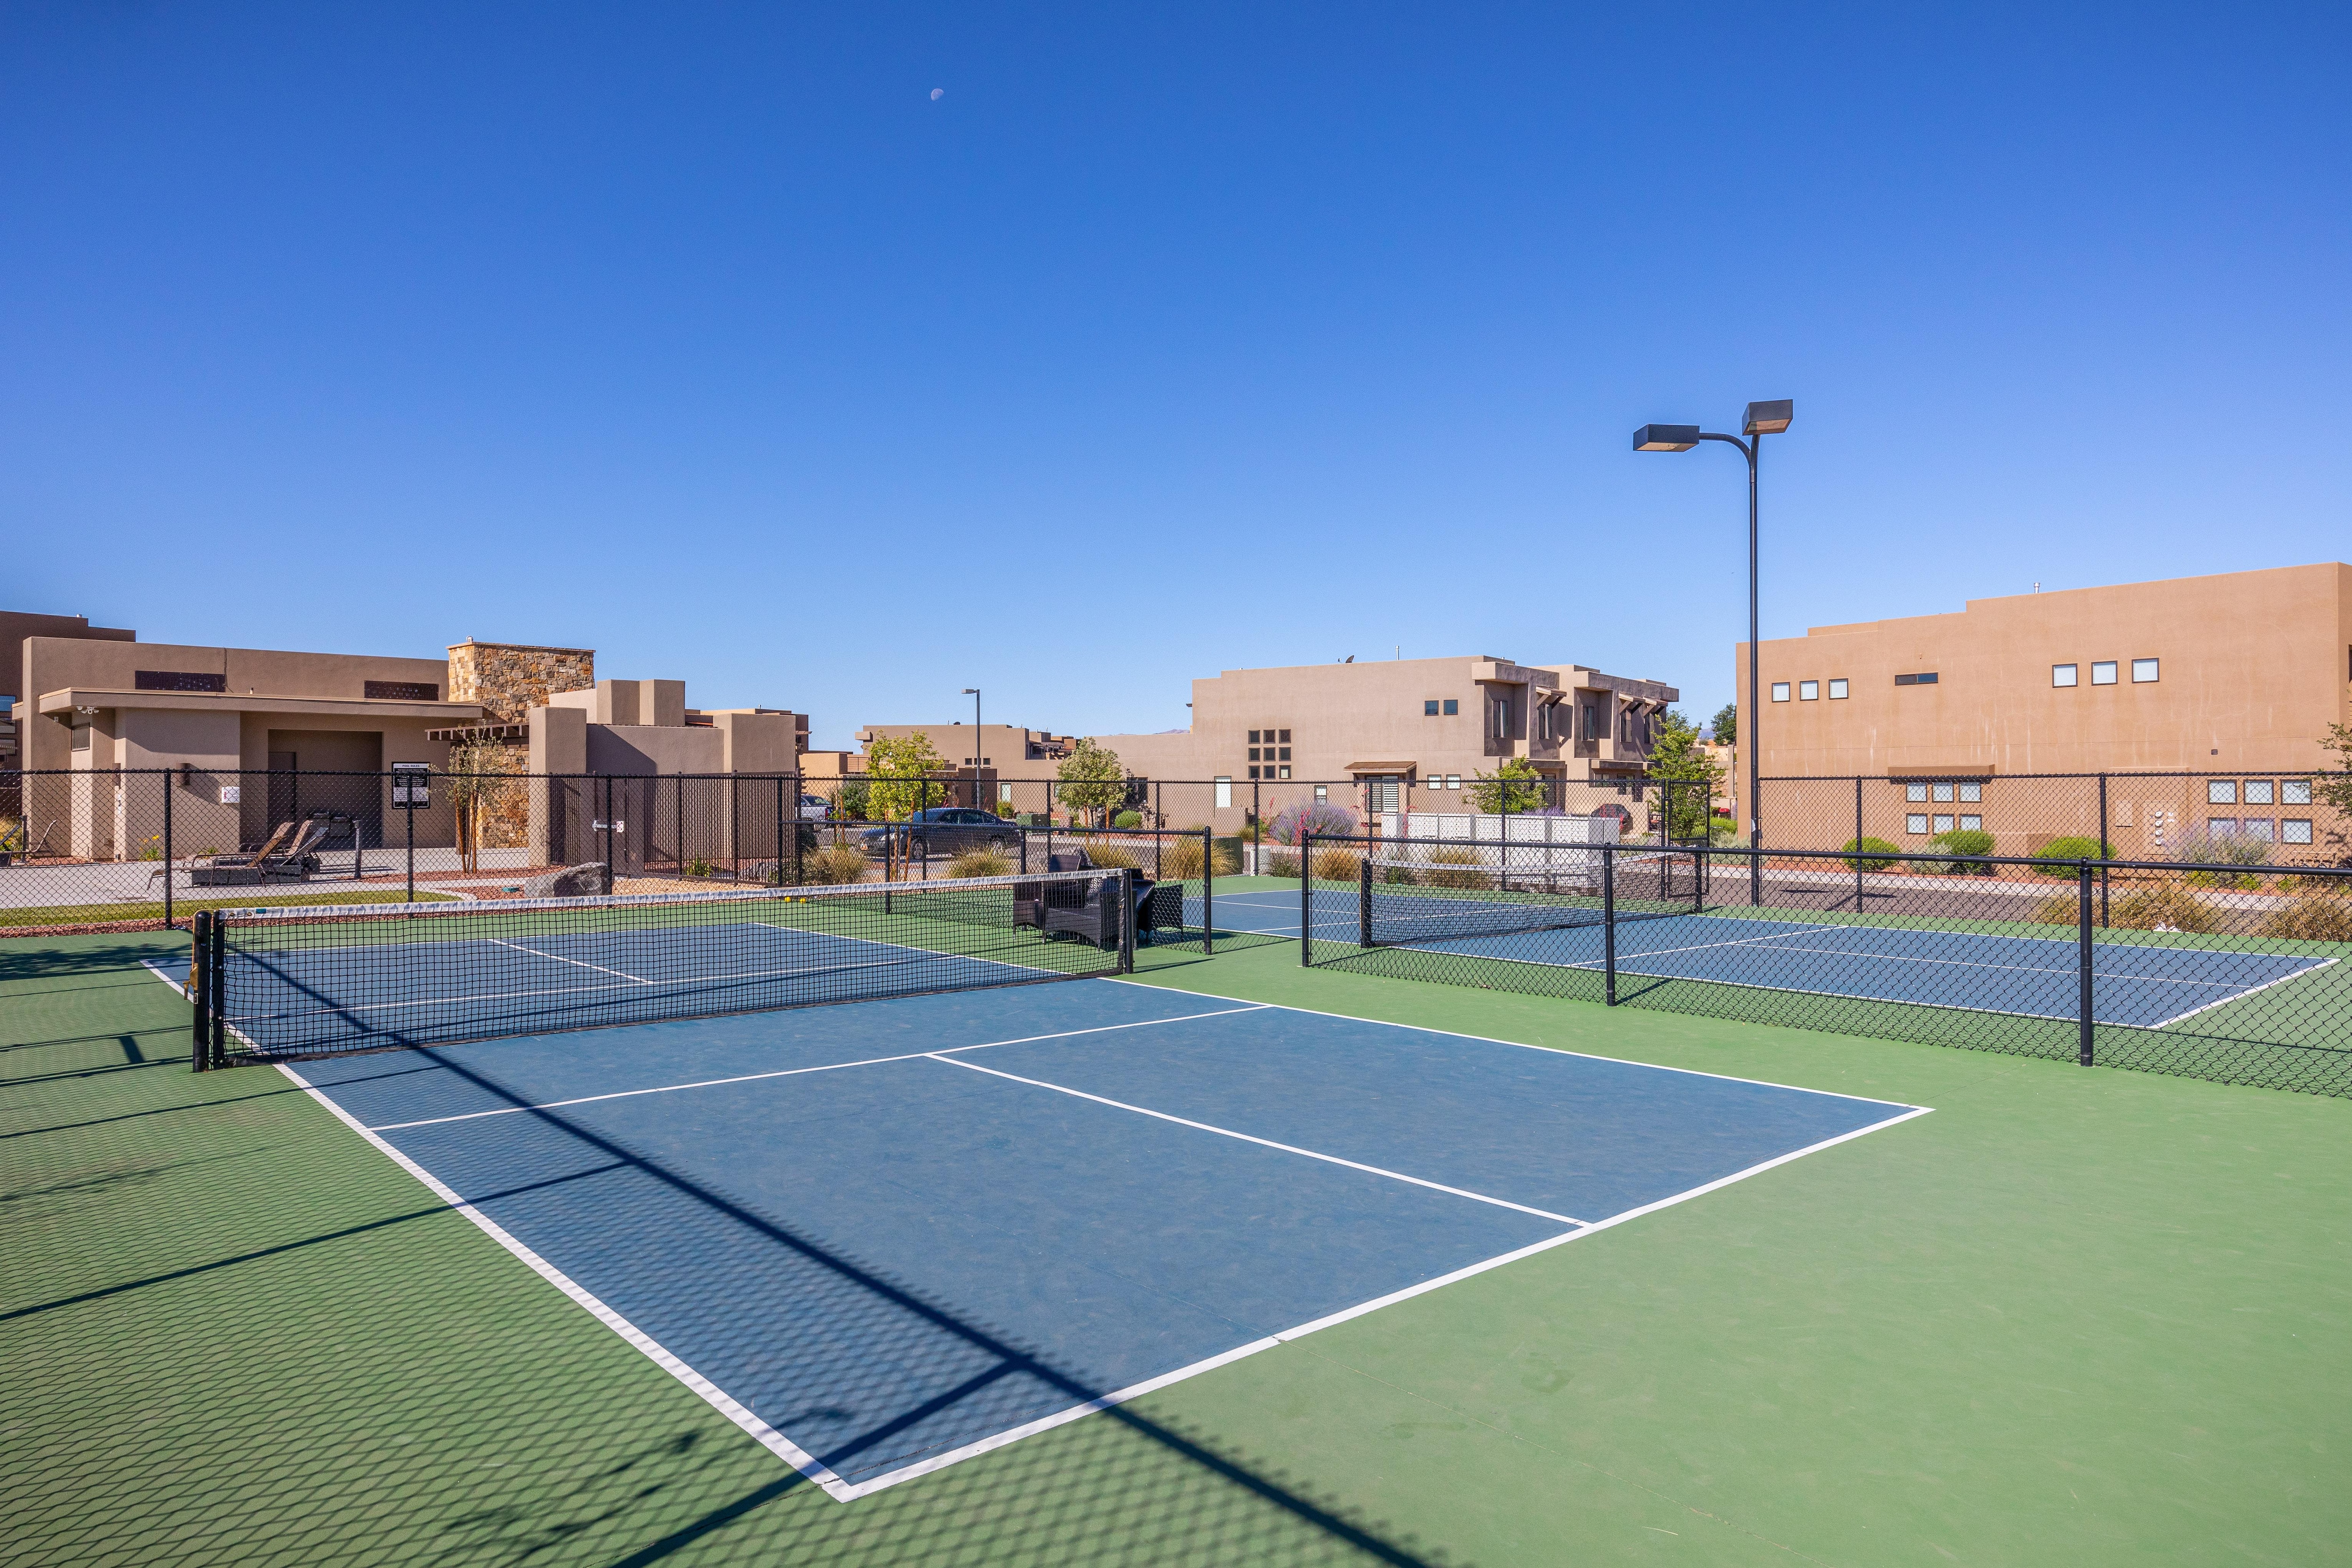
M 1762 748 L 1766 778 L 2319 769 L 2328 724 L 2352 719 L 2352 567 L 1816 625 L 1764 644 L 1762 715 L 1745 644 L 1736 677 L 1738 748 Z

